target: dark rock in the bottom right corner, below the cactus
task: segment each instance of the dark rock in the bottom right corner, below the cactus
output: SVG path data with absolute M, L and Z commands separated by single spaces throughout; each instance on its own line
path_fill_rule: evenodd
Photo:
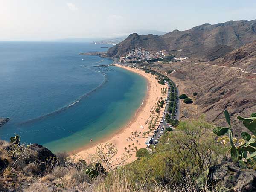
M 208 185 L 218 191 L 253 192 L 256 191 L 256 171 L 242 169 L 233 162 L 212 166 L 208 173 Z

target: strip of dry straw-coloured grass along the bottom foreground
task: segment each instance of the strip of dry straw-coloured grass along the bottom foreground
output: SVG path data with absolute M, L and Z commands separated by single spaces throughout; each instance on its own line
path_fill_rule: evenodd
M 145 177 L 146 180 L 146 177 Z M 192 183 L 185 186 L 160 186 L 157 182 L 145 186 L 134 183 L 129 173 L 112 172 L 108 177 L 97 177 L 89 181 L 83 171 L 74 168 L 55 168 L 51 174 L 37 180 L 24 190 L 25 192 L 198 192 Z M 201 192 L 212 192 L 207 188 Z

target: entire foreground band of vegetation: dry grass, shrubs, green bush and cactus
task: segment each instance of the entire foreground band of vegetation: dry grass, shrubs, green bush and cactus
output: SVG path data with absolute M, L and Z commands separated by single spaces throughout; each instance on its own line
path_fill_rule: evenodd
M 136 153 L 138 159 L 126 165 L 127 154 L 120 156 L 118 161 L 114 160 L 117 148 L 112 143 L 98 145 L 91 156 L 92 163 L 88 164 L 76 153 L 55 156 L 41 145 L 21 145 L 20 137 L 16 135 L 9 143 L 0 141 L 0 160 L 8 162 L 6 167 L 1 164 L 0 190 L 195 192 L 201 182 L 201 192 L 215 192 L 215 186 L 207 183 L 207 172 L 223 159 L 232 157 L 239 167 L 256 169 L 255 114 L 249 118 L 238 117 L 253 133 L 243 132 L 239 140 L 233 137 L 227 111 L 227 128 L 214 128 L 203 117 L 180 122 L 175 129 L 166 128 L 155 148 L 139 149 Z M 218 142 L 209 131 L 212 129 L 219 136 Z M 44 154 L 52 157 L 40 159 L 40 151 L 35 152 L 35 148 L 43 148 Z

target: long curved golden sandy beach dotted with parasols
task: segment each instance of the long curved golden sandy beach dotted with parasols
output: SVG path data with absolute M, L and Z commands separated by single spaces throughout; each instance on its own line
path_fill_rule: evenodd
M 135 154 L 136 154 L 136 148 L 137 150 L 140 148 L 146 148 L 146 140 L 148 137 L 151 137 L 152 134 L 146 134 L 143 136 L 143 132 L 149 131 L 148 125 L 149 122 L 152 120 L 152 124 L 154 124 L 155 119 L 157 118 L 156 127 L 158 127 L 165 108 L 165 104 L 163 105 L 163 108 L 161 108 L 159 113 L 155 112 L 155 109 L 157 108 L 157 101 L 162 100 L 161 97 L 166 98 L 167 95 L 163 95 L 161 89 L 164 89 L 167 87 L 167 85 L 163 86 L 157 82 L 157 79 L 155 79 L 156 76 L 145 73 L 142 70 L 125 67 L 121 65 L 116 65 L 118 67 L 122 67 L 126 70 L 130 70 L 134 73 L 138 73 L 141 76 L 145 77 L 147 79 L 147 93 L 143 100 L 142 105 L 140 108 L 136 111 L 134 114 L 134 117 L 131 119 L 131 121 L 120 129 L 116 134 L 112 135 L 111 137 L 104 138 L 100 143 L 113 143 L 116 145 L 118 149 L 118 153 L 116 154 L 115 158 L 118 158 L 122 156 L 122 154 L 126 153 L 129 156 L 129 159 L 127 162 L 131 162 L 136 160 Z M 168 87 L 167 87 L 168 89 Z M 143 128 L 140 128 L 143 126 Z M 135 136 L 135 132 L 137 132 L 137 135 Z M 141 134 L 139 134 L 141 132 Z M 99 143 L 95 143 L 95 145 L 91 148 L 87 148 L 85 150 L 82 150 L 78 153 L 79 157 L 90 160 L 90 154 L 95 153 L 96 145 L 99 145 Z M 129 147 L 130 145 L 130 147 Z M 125 150 L 125 148 L 127 148 Z M 129 150 L 129 153 L 127 152 Z

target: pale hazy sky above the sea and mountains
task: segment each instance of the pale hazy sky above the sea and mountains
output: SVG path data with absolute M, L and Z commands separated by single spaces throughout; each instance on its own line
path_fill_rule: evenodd
M 0 0 L 0 41 L 114 38 L 256 19 L 256 0 Z

